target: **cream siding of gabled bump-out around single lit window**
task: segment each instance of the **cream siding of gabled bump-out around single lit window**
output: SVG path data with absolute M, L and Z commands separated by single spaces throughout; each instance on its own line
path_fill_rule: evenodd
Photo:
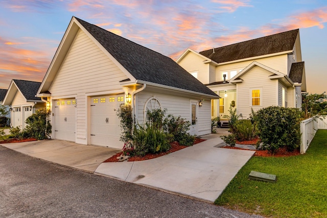
M 248 118 L 251 113 L 251 108 L 254 111 L 264 107 L 276 105 L 277 102 L 277 80 L 270 80 L 268 77 L 271 72 L 259 67 L 254 66 L 241 79 L 244 81 L 237 84 L 238 98 L 236 102 L 238 114 L 242 113 L 243 118 Z M 253 88 L 260 88 L 261 93 L 261 106 L 251 105 L 250 91 Z

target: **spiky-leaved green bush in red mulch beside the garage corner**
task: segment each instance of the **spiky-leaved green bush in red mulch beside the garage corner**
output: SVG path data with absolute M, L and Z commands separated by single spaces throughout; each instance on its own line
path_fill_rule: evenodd
M 134 130 L 133 145 L 136 156 L 166 152 L 171 147 L 166 133 L 149 124 Z

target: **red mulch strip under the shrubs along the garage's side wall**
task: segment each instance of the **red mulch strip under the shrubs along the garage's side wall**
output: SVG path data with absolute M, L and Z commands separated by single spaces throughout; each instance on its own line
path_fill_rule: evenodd
M 205 141 L 205 139 L 201 139 L 201 138 L 195 138 L 194 144 L 200 143 L 202 141 Z M 157 157 L 161 157 L 164 156 L 166 154 L 170 154 L 176 151 L 179 151 L 181 149 L 187 148 L 187 146 L 181 146 L 177 141 L 173 141 L 170 143 L 171 148 L 167 151 L 167 152 L 161 152 L 158 154 L 146 154 L 144 157 L 131 157 L 129 158 L 127 161 L 142 161 L 142 160 L 150 160 L 153 158 L 157 158 Z M 121 156 L 121 154 L 123 154 L 123 152 L 117 153 L 114 156 L 110 157 L 109 159 L 103 161 L 105 162 L 118 162 L 117 157 Z

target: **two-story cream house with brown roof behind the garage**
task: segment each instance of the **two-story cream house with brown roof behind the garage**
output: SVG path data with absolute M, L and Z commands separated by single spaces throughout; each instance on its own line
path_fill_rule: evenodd
M 306 75 L 298 29 L 200 53 L 188 49 L 176 62 L 221 96 L 212 101 L 212 117 L 229 115 L 231 103 L 243 118 L 251 108 L 301 108 Z

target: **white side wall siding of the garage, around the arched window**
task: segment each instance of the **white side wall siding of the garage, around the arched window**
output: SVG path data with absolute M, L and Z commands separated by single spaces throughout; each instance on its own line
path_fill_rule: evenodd
M 173 114 L 174 116 L 181 116 L 182 118 L 191 122 L 190 101 L 193 99 L 153 91 L 142 91 L 137 93 L 138 105 L 136 117 L 139 124 L 144 123 L 145 103 L 152 97 L 159 100 L 162 109 L 167 108 L 167 115 Z M 198 135 L 211 133 L 211 101 L 207 99 L 202 102 L 202 107 L 198 108 Z

